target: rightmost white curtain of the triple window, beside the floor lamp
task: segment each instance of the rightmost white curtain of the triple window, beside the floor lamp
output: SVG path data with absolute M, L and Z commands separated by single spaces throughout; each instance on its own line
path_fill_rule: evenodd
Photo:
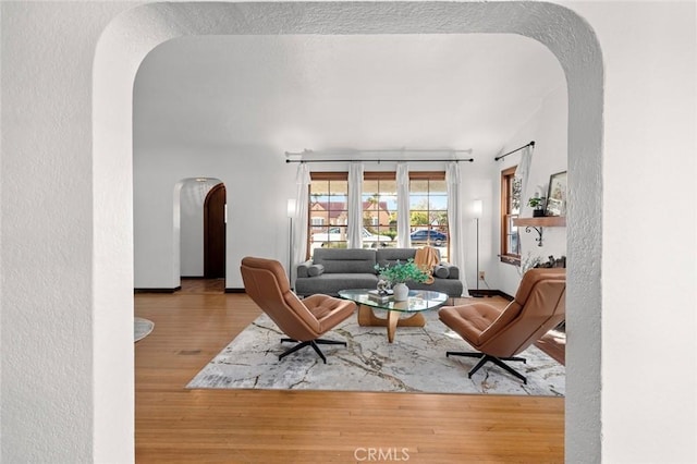
M 460 197 L 460 163 L 450 162 L 445 171 L 445 184 L 448 185 L 448 236 L 450 237 L 450 257 L 448 260 L 460 268 L 460 280 L 463 284 L 463 296 L 469 296 L 465 272 L 465 224 L 464 205 Z

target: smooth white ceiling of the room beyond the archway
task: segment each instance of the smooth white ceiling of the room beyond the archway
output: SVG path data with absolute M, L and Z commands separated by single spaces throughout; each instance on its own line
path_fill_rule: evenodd
M 144 61 L 134 130 L 142 144 L 489 155 L 564 84 L 517 35 L 186 37 Z

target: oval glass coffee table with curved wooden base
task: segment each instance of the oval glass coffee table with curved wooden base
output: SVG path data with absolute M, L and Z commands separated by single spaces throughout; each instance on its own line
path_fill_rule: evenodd
M 339 296 L 358 304 L 358 325 L 388 328 L 388 341 L 394 341 L 398 327 L 424 327 L 426 319 L 420 314 L 435 309 L 448 302 L 448 295 L 429 290 L 409 290 L 408 300 L 395 302 L 394 298 L 381 302 L 370 297 L 372 289 L 348 289 L 339 291 Z M 376 316 L 374 309 L 384 309 L 387 318 Z M 401 317 L 411 313 L 411 316 Z

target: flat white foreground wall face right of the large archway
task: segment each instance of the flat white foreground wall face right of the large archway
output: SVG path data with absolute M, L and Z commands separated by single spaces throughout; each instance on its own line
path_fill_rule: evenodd
M 625 8 L 583 9 L 607 63 L 603 460 L 694 463 L 696 4 Z

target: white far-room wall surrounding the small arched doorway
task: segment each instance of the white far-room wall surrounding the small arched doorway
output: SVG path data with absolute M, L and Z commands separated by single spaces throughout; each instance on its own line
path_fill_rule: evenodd
M 224 151 L 181 146 L 142 149 L 139 142 L 134 142 L 136 288 L 180 285 L 180 234 L 173 231 L 178 222 L 173 205 L 181 194 L 174 194 L 174 186 L 193 173 L 225 184 L 228 288 L 244 286 L 240 261 L 246 255 L 286 261 L 286 199 L 294 196 L 294 164 L 280 162 L 278 155 L 271 156 L 273 150 L 261 146 Z

